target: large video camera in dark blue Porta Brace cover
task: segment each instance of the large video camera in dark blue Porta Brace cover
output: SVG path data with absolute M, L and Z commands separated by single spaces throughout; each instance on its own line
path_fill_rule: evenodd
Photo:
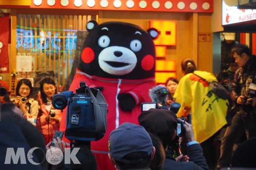
M 55 109 L 67 106 L 65 136 L 69 140 L 97 141 L 106 132 L 107 106 L 101 91 L 80 82 L 76 93 L 64 91 L 52 97 Z

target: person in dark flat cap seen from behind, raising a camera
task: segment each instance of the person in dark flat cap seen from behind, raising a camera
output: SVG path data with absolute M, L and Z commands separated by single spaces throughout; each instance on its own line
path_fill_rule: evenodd
M 208 170 L 203 150 L 200 144 L 195 141 L 192 125 L 185 122 L 185 138 L 187 140 L 187 154 L 189 162 L 176 161 L 168 151 L 169 147 L 177 140 L 177 116 L 167 109 L 149 109 L 143 111 L 139 116 L 139 123 L 149 133 L 155 133 L 163 142 L 166 150 L 166 160 L 163 165 L 164 170 Z

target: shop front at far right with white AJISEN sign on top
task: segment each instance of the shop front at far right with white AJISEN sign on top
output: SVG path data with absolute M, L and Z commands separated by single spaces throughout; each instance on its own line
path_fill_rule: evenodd
M 230 6 L 229 6 L 230 5 Z M 222 0 L 221 32 L 213 33 L 213 73 L 221 71 L 221 41 L 223 33 L 235 33 L 235 41 L 247 44 L 252 54 L 256 54 L 256 4 L 247 4 L 247 1 Z M 215 50 L 216 48 L 216 50 Z

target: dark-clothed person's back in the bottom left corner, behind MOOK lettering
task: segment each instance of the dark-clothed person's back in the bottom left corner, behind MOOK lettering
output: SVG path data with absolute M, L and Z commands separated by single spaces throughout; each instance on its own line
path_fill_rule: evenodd
M 12 103 L 0 103 L 0 169 L 47 170 L 44 136 Z

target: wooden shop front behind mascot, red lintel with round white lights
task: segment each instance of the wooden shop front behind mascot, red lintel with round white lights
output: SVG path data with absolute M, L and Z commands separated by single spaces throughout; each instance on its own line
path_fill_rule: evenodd
M 64 86 L 76 57 L 78 31 L 86 32 L 89 20 L 122 21 L 144 29 L 154 21 L 174 22 L 157 28 L 160 38 L 169 40 L 156 44 L 157 82 L 170 75 L 180 79 L 177 65 L 187 57 L 197 62 L 198 69 L 212 72 L 213 0 L 27 0 L 0 3 L 0 10 L 10 18 L 10 68 L 9 73 L 0 73 L 10 86 L 15 86 L 12 79 L 37 82 L 44 75 L 54 76 L 58 86 Z M 15 71 L 17 77 L 11 77 Z

